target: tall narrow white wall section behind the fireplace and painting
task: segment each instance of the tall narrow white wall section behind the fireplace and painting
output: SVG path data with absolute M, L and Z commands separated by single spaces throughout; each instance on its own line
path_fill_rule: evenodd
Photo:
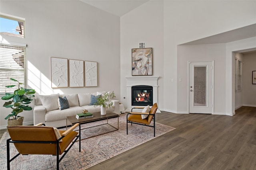
M 163 2 L 149 1 L 124 15 L 121 28 L 121 103 L 127 106 L 126 76 L 132 76 L 132 49 L 139 42 L 153 48 L 153 76 L 158 79 L 158 107 L 164 108 Z M 124 97 L 126 99 L 124 99 Z

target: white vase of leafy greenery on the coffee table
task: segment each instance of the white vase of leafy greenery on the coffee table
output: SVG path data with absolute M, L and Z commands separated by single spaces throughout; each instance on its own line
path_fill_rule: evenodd
M 100 113 L 101 115 L 106 115 L 106 109 L 108 107 L 111 107 L 113 105 L 113 102 L 110 101 L 110 98 L 114 98 L 116 97 L 114 94 L 114 91 L 112 93 L 106 93 L 104 95 L 101 95 L 97 102 L 96 102 L 96 106 L 101 106 L 100 107 Z

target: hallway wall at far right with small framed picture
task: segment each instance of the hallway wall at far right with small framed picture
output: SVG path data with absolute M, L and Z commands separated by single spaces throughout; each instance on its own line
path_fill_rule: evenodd
M 243 55 L 242 88 L 243 106 L 256 107 L 256 84 L 252 84 L 252 71 L 256 71 L 256 53 Z

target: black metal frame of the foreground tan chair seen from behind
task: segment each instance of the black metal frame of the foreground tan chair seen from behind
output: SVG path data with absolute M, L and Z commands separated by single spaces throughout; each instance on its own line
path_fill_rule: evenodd
M 45 124 L 42 124 L 45 126 Z M 60 161 L 64 158 L 64 156 L 68 153 L 68 151 L 70 150 L 70 148 L 74 145 L 74 143 L 76 143 L 77 139 L 79 138 L 79 152 L 81 152 L 81 125 L 79 124 L 79 134 L 76 136 L 76 138 L 74 139 L 74 141 L 72 142 L 72 144 L 64 151 L 64 154 L 59 158 L 59 143 L 60 140 L 62 138 L 64 138 L 65 136 L 62 136 L 60 139 L 58 139 L 57 141 L 12 141 L 12 139 L 7 139 L 6 141 L 6 148 L 7 148 L 7 170 L 10 170 L 10 162 L 12 162 L 12 160 L 14 160 L 17 156 L 20 155 L 20 153 L 16 154 L 13 158 L 10 159 L 10 143 L 50 143 L 50 144 L 54 144 L 56 143 L 56 166 L 57 166 L 57 170 L 59 169 L 59 163 Z M 26 155 L 26 154 L 24 154 Z

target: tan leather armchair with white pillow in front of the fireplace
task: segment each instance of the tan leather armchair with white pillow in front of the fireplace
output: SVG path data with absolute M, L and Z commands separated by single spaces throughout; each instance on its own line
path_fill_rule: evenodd
M 143 107 L 136 107 L 139 109 L 142 109 Z M 154 137 L 155 137 L 155 133 L 156 133 L 156 123 L 155 123 L 155 113 L 157 110 L 157 104 L 155 103 L 149 113 L 141 113 L 141 112 L 130 112 L 126 115 L 126 133 L 128 135 L 128 123 L 134 123 L 137 125 L 144 125 L 144 126 L 149 126 L 149 127 L 154 127 Z M 148 115 L 147 119 L 142 119 L 141 115 Z M 153 126 L 150 125 L 152 119 L 154 119 L 154 124 Z

